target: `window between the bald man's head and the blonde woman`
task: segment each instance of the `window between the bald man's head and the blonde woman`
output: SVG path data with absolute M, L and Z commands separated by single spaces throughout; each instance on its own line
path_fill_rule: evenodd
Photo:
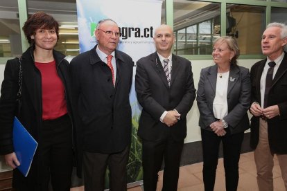
M 177 55 L 211 54 L 212 42 L 220 36 L 220 23 L 216 23 L 220 21 L 220 4 L 176 1 L 173 3 L 173 8 L 175 53 Z

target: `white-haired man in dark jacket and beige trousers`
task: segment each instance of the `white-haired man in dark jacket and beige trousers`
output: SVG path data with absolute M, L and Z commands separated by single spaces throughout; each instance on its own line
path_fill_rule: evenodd
M 273 190 L 273 156 L 277 155 L 287 190 L 287 28 L 271 23 L 261 39 L 265 60 L 251 68 L 250 146 L 254 149 L 259 190 Z M 268 80 L 270 76 L 270 80 Z M 269 89 L 269 91 L 268 91 Z

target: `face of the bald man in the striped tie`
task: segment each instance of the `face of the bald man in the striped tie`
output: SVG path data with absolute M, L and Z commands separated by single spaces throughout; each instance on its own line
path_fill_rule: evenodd
M 162 25 L 155 30 L 155 37 L 153 37 L 155 47 L 160 55 L 170 55 L 173 47 L 174 36 L 173 30 L 170 26 Z

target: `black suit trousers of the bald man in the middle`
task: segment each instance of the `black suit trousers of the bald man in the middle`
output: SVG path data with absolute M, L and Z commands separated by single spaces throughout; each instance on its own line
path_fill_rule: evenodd
M 171 127 L 172 128 L 172 127 Z M 157 173 L 164 158 L 164 181 L 162 190 L 176 191 L 180 174 L 180 157 L 184 140 L 166 138 L 161 141 L 143 140 L 143 188 L 145 191 L 157 189 Z

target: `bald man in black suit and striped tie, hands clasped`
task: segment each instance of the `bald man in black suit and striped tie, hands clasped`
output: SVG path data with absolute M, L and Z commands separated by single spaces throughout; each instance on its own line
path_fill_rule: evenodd
M 138 135 L 143 143 L 143 187 L 157 188 L 164 158 L 162 190 L 177 190 L 180 156 L 186 137 L 186 114 L 195 99 L 191 62 L 171 53 L 170 26 L 155 30 L 157 51 L 137 62 L 135 88 L 143 107 Z

